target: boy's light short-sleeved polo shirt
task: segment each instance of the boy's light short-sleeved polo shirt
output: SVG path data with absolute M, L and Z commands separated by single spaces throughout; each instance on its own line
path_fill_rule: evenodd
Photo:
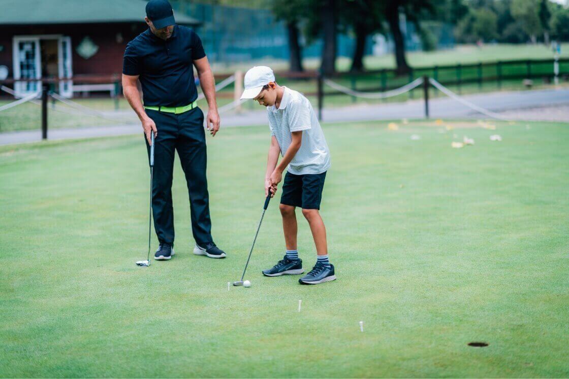
M 330 168 L 330 151 L 318 117 L 306 97 L 290 88 L 283 88 L 280 107 L 267 107 L 271 135 L 277 138 L 284 156 L 292 141 L 291 132 L 302 131 L 302 144 L 287 171 L 296 175 L 321 174 Z

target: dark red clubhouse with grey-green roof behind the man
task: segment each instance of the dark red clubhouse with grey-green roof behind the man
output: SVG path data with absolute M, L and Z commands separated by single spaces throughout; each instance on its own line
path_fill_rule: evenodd
M 0 81 L 69 78 L 56 90 L 72 97 L 85 86 L 74 86 L 71 78 L 77 83 L 98 76 L 98 88 L 105 89 L 105 80 L 122 72 L 127 42 L 147 28 L 145 6 L 145 0 L 0 0 Z M 186 15 L 175 17 L 178 24 L 199 25 Z M 39 86 L 14 83 L 20 96 Z

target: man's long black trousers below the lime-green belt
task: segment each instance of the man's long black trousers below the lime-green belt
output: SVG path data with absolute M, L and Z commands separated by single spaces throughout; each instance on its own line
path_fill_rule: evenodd
M 207 151 L 203 112 L 194 108 L 182 114 L 154 110 L 146 110 L 146 114 L 154 120 L 158 130 L 154 140 L 152 179 L 152 213 L 158 240 L 160 243 L 174 244 L 172 171 L 174 153 L 178 151 L 188 185 L 193 238 L 199 245 L 212 242 L 208 182 L 205 177 Z M 150 159 L 148 143 L 146 147 Z

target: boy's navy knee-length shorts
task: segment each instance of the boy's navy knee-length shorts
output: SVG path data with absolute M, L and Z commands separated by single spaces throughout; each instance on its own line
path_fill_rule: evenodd
M 326 173 L 284 176 L 281 204 L 302 209 L 320 209 Z

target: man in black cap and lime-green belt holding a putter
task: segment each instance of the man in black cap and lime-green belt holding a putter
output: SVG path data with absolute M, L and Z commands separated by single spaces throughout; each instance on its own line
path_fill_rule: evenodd
M 204 114 L 196 104 L 192 64 L 196 66 L 209 106 L 207 128 L 215 136 L 220 119 L 213 73 L 199 36 L 175 24 L 174 11 L 167 0 L 150 0 L 146 4 L 145 20 L 149 28 L 126 46 L 122 86 L 126 99 L 141 120 L 149 154 L 151 133 L 155 136 L 152 213 L 160 245 L 154 259 L 169 260 L 174 255 L 172 170 L 175 150 L 188 184 L 196 242 L 193 253 L 224 258 L 225 253 L 216 247 L 211 236 Z

